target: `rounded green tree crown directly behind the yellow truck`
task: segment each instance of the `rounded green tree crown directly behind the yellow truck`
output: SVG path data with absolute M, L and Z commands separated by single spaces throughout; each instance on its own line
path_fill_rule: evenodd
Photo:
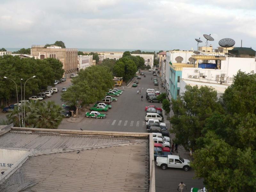
M 130 57 L 120 58 L 113 67 L 113 74 L 116 77 L 123 77 L 124 81 L 131 79 L 136 71 L 136 64 Z

